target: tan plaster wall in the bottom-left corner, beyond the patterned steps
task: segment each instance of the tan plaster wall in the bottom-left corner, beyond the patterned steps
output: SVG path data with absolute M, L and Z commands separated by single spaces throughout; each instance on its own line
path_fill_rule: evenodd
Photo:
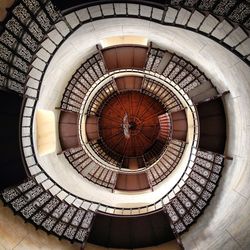
M 25 223 L 20 216 L 15 216 L 10 208 L 4 207 L 0 201 L 0 250 L 80 250 L 81 244 L 71 244 L 67 240 L 59 240 L 43 230 L 36 230 Z M 137 250 L 180 250 L 175 241 L 154 247 L 137 248 Z M 85 250 L 118 250 L 86 244 Z M 129 250 L 129 249 L 123 249 Z

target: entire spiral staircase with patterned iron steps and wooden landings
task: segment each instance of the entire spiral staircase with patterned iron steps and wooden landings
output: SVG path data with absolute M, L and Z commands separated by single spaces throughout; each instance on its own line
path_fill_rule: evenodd
M 1 138 L 9 139 L 1 149 L 3 203 L 73 247 L 156 249 L 167 242 L 163 249 L 172 244 L 189 249 L 185 235 L 206 215 L 224 163 L 233 160 L 226 143 L 230 88 L 218 88 L 185 54 L 153 38 L 144 45 L 94 44 L 58 86 L 55 101 L 46 96 L 46 74 L 74 34 L 110 18 L 196 32 L 249 66 L 249 15 L 248 1 L 231 0 L 21 0 L 8 6 L 0 36 Z M 57 115 L 60 143 L 51 164 L 63 161 L 67 173 L 81 181 L 71 184 L 92 188 L 83 190 L 87 196 L 51 175 L 45 166 L 49 156 L 38 154 L 35 117 L 47 97 Z M 97 197 L 101 194 L 108 198 Z M 131 197 L 140 199 L 140 194 L 155 198 L 138 206 Z M 130 197 L 129 206 L 115 201 L 124 197 Z

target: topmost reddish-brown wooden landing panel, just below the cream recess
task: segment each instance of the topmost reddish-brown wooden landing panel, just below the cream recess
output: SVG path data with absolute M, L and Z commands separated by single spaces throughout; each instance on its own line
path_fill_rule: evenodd
M 148 48 L 139 45 L 112 46 L 102 50 L 108 70 L 136 68 L 145 66 Z

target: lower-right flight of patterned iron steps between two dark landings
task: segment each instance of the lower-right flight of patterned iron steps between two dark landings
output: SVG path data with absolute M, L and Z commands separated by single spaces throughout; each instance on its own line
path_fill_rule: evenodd
M 220 177 L 223 159 L 219 154 L 197 151 L 185 183 L 166 205 L 178 233 L 185 231 L 209 203 Z

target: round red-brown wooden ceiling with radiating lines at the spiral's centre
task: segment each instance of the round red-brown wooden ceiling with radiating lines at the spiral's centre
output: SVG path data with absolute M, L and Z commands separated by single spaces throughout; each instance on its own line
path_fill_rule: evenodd
M 149 150 L 160 131 L 158 115 L 165 112 L 154 98 L 137 91 L 114 96 L 100 115 L 100 136 L 112 151 L 124 157 L 136 157 Z M 128 117 L 129 136 L 124 129 Z

